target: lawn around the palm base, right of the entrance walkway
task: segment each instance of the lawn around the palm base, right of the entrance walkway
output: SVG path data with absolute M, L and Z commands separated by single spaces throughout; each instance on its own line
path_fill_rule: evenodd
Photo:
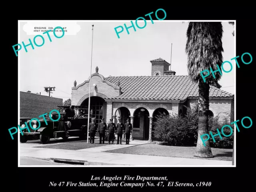
M 176 147 L 164 146 L 158 144 L 142 144 L 115 150 L 108 150 L 108 153 L 122 153 L 122 154 L 137 154 L 137 155 L 152 155 L 165 157 L 180 157 L 180 158 L 196 158 L 194 151 L 196 147 Z M 212 155 L 214 158 L 198 158 L 209 160 L 232 161 L 233 149 L 219 149 L 212 148 Z

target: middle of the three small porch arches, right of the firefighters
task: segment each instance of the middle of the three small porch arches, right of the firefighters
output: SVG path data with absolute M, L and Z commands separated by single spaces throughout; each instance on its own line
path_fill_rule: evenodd
M 133 128 L 134 131 L 138 131 L 136 137 L 142 140 L 148 140 L 149 138 L 149 112 L 146 108 L 140 107 L 134 111 Z M 134 134 L 133 134 L 133 137 Z M 135 137 L 135 138 L 136 138 Z

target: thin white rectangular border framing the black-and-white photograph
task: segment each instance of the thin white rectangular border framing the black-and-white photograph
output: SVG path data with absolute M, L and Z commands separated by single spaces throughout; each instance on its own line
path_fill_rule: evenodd
M 131 20 L 18 20 L 18 42 L 20 42 L 20 22 L 130 22 Z M 151 20 L 146 20 L 151 22 Z M 154 22 L 234 22 L 234 51 L 236 55 L 236 20 L 153 20 Z M 138 22 L 144 22 L 139 20 Z M 20 53 L 18 54 L 18 125 L 20 124 Z M 234 74 L 234 121 L 236 121 L 236 70 Z M 236 129 L 234 129 L 236 130 Z M 20 165 L 20 130 L 18 129 L 18 167 L 88 167 L 85 165 L 64 165 L 64 166 L 46 166 L 46 165 Z M 236 167 L 236 131 L 234 131 L 234 165 L 172 165 L 172 166 L 158 166 L 158 165 L 127 165 L 127 166 L 92 166 L 89 167 Z

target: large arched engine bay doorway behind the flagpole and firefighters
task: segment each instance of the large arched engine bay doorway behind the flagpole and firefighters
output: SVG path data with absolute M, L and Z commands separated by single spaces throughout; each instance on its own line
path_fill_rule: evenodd
M 88 106 L 89 98 L 82 102 L 82 106 Z M 92 96 L 90 99 L 91 116 L 95 118 L 95 123 L 100 123 L 102 118 L 105 118 L 106 102 L 103 98 Z

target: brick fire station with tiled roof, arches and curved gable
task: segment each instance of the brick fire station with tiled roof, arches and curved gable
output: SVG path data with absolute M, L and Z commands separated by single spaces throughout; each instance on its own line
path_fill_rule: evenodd
M 192 107 L 198 100 L 198 84 L 189 76 L 176 76 L 170 64 L 159 58 L 152 63 L 151 76 L 109 76 L 92 74 L 90 107 L 96 117 L 106 121 L 122 117 L 131 119 L 134 139 L 152 140 L 152 121 L 159 113 L 183 115 L 184 106 Z M 88 106 L 90 77 L 82 84 L 72 87 L 72 105 Z M 234 120 L 234 95 L 210 86 L 210 116 L 231 113 Z

